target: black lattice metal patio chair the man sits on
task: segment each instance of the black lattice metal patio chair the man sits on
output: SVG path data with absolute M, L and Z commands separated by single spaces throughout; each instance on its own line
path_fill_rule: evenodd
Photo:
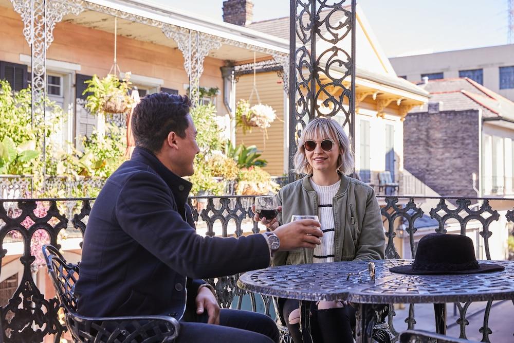
M 75 284 L 79 265 L 66 263 L 59 250 L 43 246 L 48 274 L 64 309 L 66 327 L 75 342 L 83 343 L 157 343 L 173 342 L 180 324 L 168 316 L 85 317 L 77 314 Z

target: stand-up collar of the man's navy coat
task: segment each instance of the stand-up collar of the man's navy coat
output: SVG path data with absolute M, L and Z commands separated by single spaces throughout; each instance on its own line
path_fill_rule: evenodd
M 152 168 L 160 177 L 162 177 L 168 187 L 170 187 L 177 205 L 179 207 L 184 207 L 186 205 L 189 192 L 191 191 L 191 187 L 193 187 L 192 183 L 169 170 L 161 163 L 157 156 L 148 149 L 136 147 L 132 153 L 131 160 L 144 163 Z

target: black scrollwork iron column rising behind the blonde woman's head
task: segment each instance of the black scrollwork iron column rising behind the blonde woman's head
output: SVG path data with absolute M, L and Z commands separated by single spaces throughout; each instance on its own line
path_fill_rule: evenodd
M 290 0 L 289 170 L 314 118 L 342 114 L 355 138 L 355 7 L 356 0 Z

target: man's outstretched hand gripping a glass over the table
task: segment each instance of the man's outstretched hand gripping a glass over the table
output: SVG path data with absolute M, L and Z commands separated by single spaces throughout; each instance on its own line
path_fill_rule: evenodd
M 319 237 L 323 232 L 319 229 L 320 223 L 312 219 L 303 219 L 282 225 L 273 232 L 280 239 L 279 250 L 292 250 L 296 248 L 311 248 L 320 245 Z

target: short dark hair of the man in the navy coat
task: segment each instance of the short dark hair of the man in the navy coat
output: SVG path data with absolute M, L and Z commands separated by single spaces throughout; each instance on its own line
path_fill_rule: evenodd
M 161 92 L 142 98 L 132 114 L 136 146 L 157 152 L 171 131 L 181 138 L 186 137 L 189 126 L 186 115 L 190 107 L 191 100 L 185 95 Z

